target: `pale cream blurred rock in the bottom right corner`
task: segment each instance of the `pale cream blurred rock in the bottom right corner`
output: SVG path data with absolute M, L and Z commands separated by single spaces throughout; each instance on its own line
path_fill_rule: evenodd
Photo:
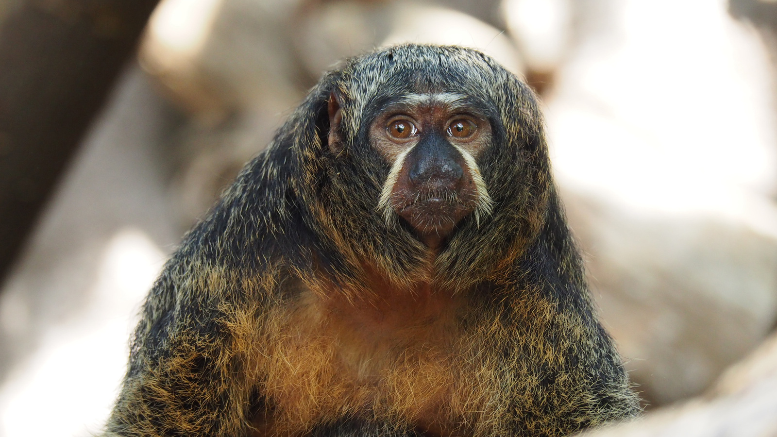
M 637 421 L 584 437 L 774 437 L 777 435 L 777 335 L 733 366 L 705 397 L 664 407 Z

